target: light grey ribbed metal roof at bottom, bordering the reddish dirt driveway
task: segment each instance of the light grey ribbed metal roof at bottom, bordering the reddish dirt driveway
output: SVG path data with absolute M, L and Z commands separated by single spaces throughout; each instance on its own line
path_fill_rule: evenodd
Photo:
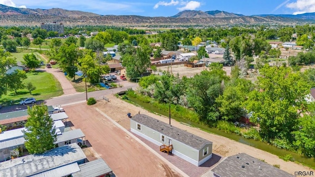
M 80 164 L 79 167 L 80 171 L 72 174 L 72 177 L 98 177 L 112 172 L 103 159 Z

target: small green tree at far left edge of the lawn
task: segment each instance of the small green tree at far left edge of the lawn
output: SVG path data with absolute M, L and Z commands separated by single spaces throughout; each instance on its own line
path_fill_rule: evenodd
M 23 89 L 25 86 L 23 80 L 27 77 L 25 71 L 15 70 L 13 73 L 8 74 L 6 77 L 6 85 L 8 89 L 15 91 L 15 94 L 18 94 L 18 89 Z

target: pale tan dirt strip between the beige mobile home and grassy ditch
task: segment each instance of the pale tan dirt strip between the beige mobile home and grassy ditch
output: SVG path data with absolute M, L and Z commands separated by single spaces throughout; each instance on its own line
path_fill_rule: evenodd
M 136 107 L 132 104 L 126 103 L 125 101 L 119 98 L 116 98 L 113 95 L 108 96 L 108 98 L 110 102 L 97 102 L 95 107 L 103 111 L 105 114 L 110 115 L 111 118 L 113 118 L 116 122 L 121 124 L 126 129 L 130 129 L 130 121 L 129 121 L 129 118 L 127 118 L 126 114 L 131 113 L 131 115 L 135 115 L 135 114 L 138 114 L 139 111 L 141 112 L 141 114 L 146 114 L 148 116 L 151 116 L 153 118 L 158 118 L 159 120 L 168 123 L 168 118 L 155 115 L 140 107 Z M 230 140 L 225 137 L 221 137 L 219 135 L 206 133 L 198 128 L 184 125 L 175 120 L 172 120 L 171 123 L 172 125 L 178 128 L 187 130 L 188 132 L 192 134 L 198 135 L 200 137 L 203 137 L 207 140 L 212 141 L 213 152 L 221 156 L 227 157 L 227 156 L 235 155 L 237 153 L 245 152 L 249 155 L 252 155 L 255 158 L 264 159 L 265 162 L 267 162 L 268 164 L 271 164 L 271 165 L 278 164 L 280 165 L 280 169 L 292 175 L 294 174 L 295 171 L 314 171 L 308 167 L 296 164 L 294 162 L 285 162 L 284 160 L 280 159 L 278 156 L 270 154 L 266 151 L 244 145 L 242 143 Z

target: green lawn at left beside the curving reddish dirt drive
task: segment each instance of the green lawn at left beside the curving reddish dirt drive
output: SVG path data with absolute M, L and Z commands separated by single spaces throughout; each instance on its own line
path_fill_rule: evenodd
M 34 97 L 36 100 L 45 100 L 51 97 L 60 96 L 63 94 L 63 89 L 58 80 L 47 72 L 29 72 L 28 78 L 24 83 L 31 82 L 36 89 L 32 91 L 32 95 L 27 89 L 18 90 L 18 95 L 14 91 L 9 91 L 6 95 L 2 95 L 0 103 L 2 105 L 9 105 L 10 101 L 15 104 L 28 97 Z

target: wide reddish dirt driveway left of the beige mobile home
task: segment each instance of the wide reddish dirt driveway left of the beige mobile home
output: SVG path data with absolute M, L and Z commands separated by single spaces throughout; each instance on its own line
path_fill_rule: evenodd
M 86 140 L 117 177 L 180 177 L 151 151 L 97 112 L 95 106 L 82 103 L 64 109 L 68 120 L 84 132 Z M 123 111 L 115 110 L 123 116 Z

